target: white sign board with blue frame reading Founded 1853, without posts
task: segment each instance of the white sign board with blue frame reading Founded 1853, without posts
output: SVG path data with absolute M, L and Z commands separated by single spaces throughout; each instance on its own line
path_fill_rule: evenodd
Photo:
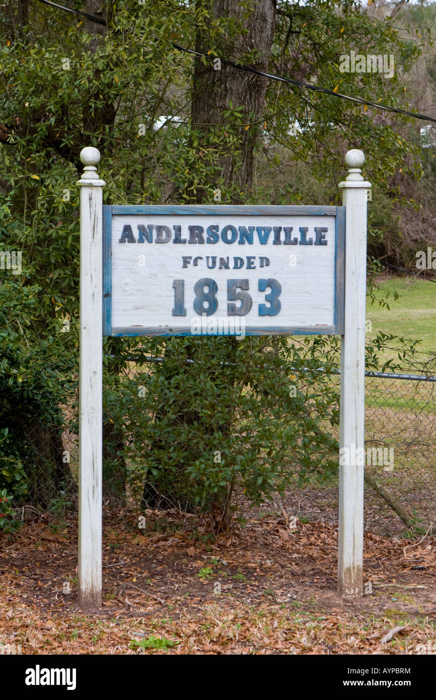
M 106 335 L 341 332 L 342 207 L 104 209 Z

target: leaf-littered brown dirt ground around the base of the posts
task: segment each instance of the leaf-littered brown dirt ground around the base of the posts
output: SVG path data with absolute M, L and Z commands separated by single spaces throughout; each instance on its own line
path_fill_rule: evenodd
M 23 654 L 436 652 L 435 537 L 405 540 L 400 522 L 398 535 L 378 534 L 367 502 L 368 592 L 342 599 L 337 490 L 283 503 L 304 514 L 296 528 L 265 504 L 215 540 L 204 519 L 177 511 L 143 513 L 145 528 L 133 510 L 105 514 L 103 603 L 90 614 L 77 606 L 76 515 L 27 521 L 0 537 L 0 643 Z

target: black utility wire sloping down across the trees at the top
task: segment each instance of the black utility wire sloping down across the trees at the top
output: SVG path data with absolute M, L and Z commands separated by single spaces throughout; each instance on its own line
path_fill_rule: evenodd
M 87 13 L 81 12 L 80 10 L 71 10 L 71 8 L 64 7 L 63 5 L 58 5 L 57 3 L 51 2 L 50 0 L 38 0 L 38 2 L 42 2 L 45 5 L 50 5 L 60 10 L 66 10 L 66 12 L 72 12 L 75 15 L 83 15 L 83 17 L 86 17 L 88 20 L 98 22 L 99 25 L 106 25 L 105 20 L 101 20 L 97 17 L 92 17 L 92 15 L 88 15 Z M 195 51 L 192 48 L 185 48 L 184 46 L 181 46 L 176 43 L 173 43 L 172 45 L 178 51 L 182 51 L 183 53 L 190 53 L 194 56 L 209 59 L 211 58 L 210 55 L 202 51 Z M 433 122 L 436 124 L 436 119 L 434 119 L 433 117 L 428 117 L 425 114 L 419 114 L 417 112 L 408 112 L 407 110 L 400 109 L 399 107 L 389 107 L 387 104 L 380 104 L 380 102 L 372 102 L 371 100 L 363 99 L 362 97 L 351 97 L 348 94 L 342 94 L 342 92 L 335 92 L 335 90 L 329 90 L 328 87 L 320 87 L 319 85 L 312 85 L 312 83 L 303 83 L 302 80 L 294 80 L 293 78 L 283 78 L 283 76 L 276 76 L 274 75 L 274 73 L 265 73 L 265 71 L 258 71 L 258 69 L 256 68 L 253 68 L 251 66 L 245 66 L 242 63 L 236 63 L 234 61 L 230 61 L 229 59 L 220 58 L 220 61 L 227 66 L 232 66 L 232 68 L 238 69 L 239 71 L 246 71 L 246 73 L 254 73 L 255 75 L 260 76 L 262 78 L 269 78 L 269 80 L 277 80 L 279 83 L 288 83 L 290 85 L 297 85 L 297 87 L 305 87 L 307 90 L 312 90 L 313 92 L 323 92 L 323 94 L 330 94 L 333 97 L 340 97 L 341 99 L 348 100 L 349 102 L 354 102 L 355 104 L 369 105 L 371 107 L 375 107 L 376 109 L 381 109 L 385 112 L 403 114 L 406 117 L 422 119 L 423 121 Z

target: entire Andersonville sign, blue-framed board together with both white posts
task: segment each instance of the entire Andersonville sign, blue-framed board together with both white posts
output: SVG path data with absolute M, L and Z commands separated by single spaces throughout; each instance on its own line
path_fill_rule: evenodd
M 371 185 L 352 149 L 344 207 L 104 207 L 99 151 L 80 160 L 78 602 L 90 610 L 101 605 L 102 335 L 340 334 L 339 448 L 357 454 Z M 363 465 L 341 460 L 338 540 L 339 592 L 360 596 Z

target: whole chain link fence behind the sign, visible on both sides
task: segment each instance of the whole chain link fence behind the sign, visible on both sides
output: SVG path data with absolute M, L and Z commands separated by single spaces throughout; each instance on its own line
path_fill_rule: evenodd
M 140 394 L 146 390 L 148 375 L 160 357 L 132 356 L 116 358 L 120 374 L 131 381 Z M 322 370 L 321 370 L 322 371 Z M 331 377 L 339 392 L 339 370 Z M 117 393 L 118 392 L 118 393 Z M 122 390 L 111 386 L 112 402 L 127 401 Z M 381 496 L 380 511 L 398 506 L 406 525 L 428 528 L 436 513 L 435 454 L 436 454 L 436 362 L 416 362 L 403 367 L 401 373 L 366 372 L 365 379 L 365 451 L 367 486 L 376 488 Z M 126 416 L 129 407 L 126 406 Z M 125 430 L 111 420 L 110 402 L 106 402 L 104 420 L 104 507 L 120 508 L 127 503 L 139 506 L 143 498 L 141 472 L 132 469 L 125 441 L 129 440 L 127 419 Z M 28 446 L 27 495 L 17 509 L 22 519 L 50 512 L 62 517 L 78 503 L 78 402 L 60 408 L 57 425 L 43 420 L 27 425 L 24 439 Z M 151 416 L 141 415 L 146 424 Z M 332 428 L 335 437 L 339 430 Z M 136 433 L 137 435 L 137 433 Z M 146 461 L 153 449 L 146 443 L 130 445 L 139 460 Z M 183 510 L 183 503 L 168 494 L 148 494 L 155 508 Z M 405 516 L 402 516 L 402 510 Z M 435 528 L 436 529 L 436 528 Z M 435 531 L 435 530 L 433 530 Z

